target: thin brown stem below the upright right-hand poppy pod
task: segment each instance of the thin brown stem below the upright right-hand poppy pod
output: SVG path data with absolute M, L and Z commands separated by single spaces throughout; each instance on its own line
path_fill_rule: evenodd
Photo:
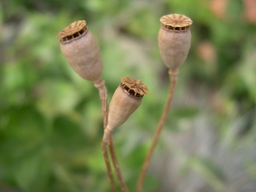
M 153 142 L 150 146 L 150 149 L 148 150 L 148 155 L 147 155 L 147 157 L 146 157 L 146 159 L 145 159 L 145 161 L 142 165 L 141 174 L 140 174 L 138 182 L 137 182 L 137 192 L 142 191 L 142 186 L 143 186 L 143 182 L 144 182 L 147 170 L 148 170 L 148 165 L 149 165 L 150 159 L 153 155 L 154 148 L 155 148 L 155 145 L 157 144 L 157 141 L 158 141 L 158 138 L 160 136 L 162 127 L 163 127 L 163 125 L 164 125 L 164 123 L 167 119 L 167 114 L 169 112 L 169 109 L 170 109 L 170 106 L 171 106 L 171 103 L 172 103 L 172 99 L 173 99 L 173 96 L 174 96 L 174 87 L 176 85 L 176 80 L 177 80 L 177 75 L 179 74 L 179 70 L 178 69 L 176 69 L 176 70 L 169 69 L 168 74 L 169 74 L 171 84 L 169 86 L 169 92 L 168 92 L 168 96 L 167 96 L 167 103 L 164 107 L 164 110 L 161 114 L 160 121 L 157 125 L 157 128 L 156 128 L 155 132 L 154 132 Z

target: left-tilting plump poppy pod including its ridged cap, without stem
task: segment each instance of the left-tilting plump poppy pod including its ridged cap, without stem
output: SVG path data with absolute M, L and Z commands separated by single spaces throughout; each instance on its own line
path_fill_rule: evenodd
M 85 80 L 97 81 L 102 76 L 102 55 L 84 20 L 62 29 L 60 47 L 70 67 Z

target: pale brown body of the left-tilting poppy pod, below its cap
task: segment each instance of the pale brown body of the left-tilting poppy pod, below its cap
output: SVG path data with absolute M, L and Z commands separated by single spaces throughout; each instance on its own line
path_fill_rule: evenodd
M 85 35 L 71 42 L 60 42 L 62 54 L 85 80 L 98 81 L 102 75 L 102 55 L 94 36 L 88 30 Z

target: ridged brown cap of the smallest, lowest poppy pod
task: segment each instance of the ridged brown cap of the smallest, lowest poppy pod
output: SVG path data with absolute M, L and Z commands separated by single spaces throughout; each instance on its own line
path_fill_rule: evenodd
M 121 87 L 123 87 L 127 93 L 142 98 L 148 94 L 148 87 L 141 83 L 141 80 L 133 80 L 129 77 L 121 77 Z

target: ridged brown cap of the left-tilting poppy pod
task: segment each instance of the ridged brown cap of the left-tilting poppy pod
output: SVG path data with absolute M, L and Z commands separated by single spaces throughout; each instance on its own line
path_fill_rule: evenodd
M 62 29 L 56 38 L 60 38 L 61 42 L 69 42 L 72 39 L 80 37 L 87 32 L 86 21 L 79 20 L 76 22 L 72 22 L 68 27 Z

